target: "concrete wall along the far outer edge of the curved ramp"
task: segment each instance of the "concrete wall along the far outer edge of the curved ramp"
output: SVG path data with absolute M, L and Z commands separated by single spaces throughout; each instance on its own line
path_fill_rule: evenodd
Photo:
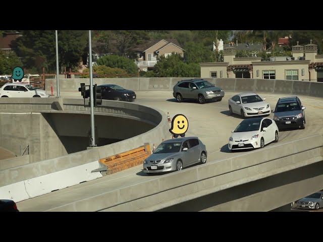
M 117 84 L 123 88 L 133 91 L 147 90 L 170 90 L 174 85 L 187 78 L 94 78 L 93 83 Z M 234 92 L 270 92 L 284 93 L 291 95 L 304 95 L 313 97 L 323 97 L 323 83 L 308 81 L 271 80 L 271 79 L 249 79 L 249 78 L 203 78 L 225 91 Z M 56 79 L 46 79 L 46 91 L 50 92 L 50 83 L 53 90 L 56 89 Z M 80 83 L 89 85 L 87 78 L 60 79 L 60 90 L 63 92 L 78 91 Z M 81 94 L 80 94 L 81 96 Z

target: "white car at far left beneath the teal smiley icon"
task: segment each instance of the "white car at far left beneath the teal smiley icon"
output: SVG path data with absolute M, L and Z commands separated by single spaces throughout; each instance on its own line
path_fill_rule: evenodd
M 0 97 L 49 97 L 49 94 L 29 84 L 6 83 L 0 89 Z

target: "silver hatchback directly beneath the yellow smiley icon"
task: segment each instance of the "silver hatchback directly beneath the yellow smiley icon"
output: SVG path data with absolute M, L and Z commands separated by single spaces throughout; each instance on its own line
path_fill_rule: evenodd
M 147 174 L 181 170 L 187 166 L 206 162 L 206 147 L 197 137 L 166 140 L 144 160 Z

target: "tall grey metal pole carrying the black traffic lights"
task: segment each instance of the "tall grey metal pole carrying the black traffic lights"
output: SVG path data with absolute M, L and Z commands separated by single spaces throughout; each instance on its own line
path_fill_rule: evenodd
M 95 132 L 94 132 L 94 110 L 93 110 L 93 66 L 92 66 L 92 43 L 91 43 L 91 30 L 89 30 L 89 65 L 90 65 L 90 111 L 91 111 L 91 147 L 95 147 Z M 94 93 L 96 95 L 96 93 Z

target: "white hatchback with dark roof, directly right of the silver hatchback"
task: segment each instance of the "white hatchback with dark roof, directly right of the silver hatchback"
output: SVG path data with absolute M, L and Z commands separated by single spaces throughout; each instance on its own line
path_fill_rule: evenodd
M 271 142 L 278 142 L 279 130 L 275 121 L 267 117 L 244 119 L 231 131 L 229 150 L 263 148 Z

